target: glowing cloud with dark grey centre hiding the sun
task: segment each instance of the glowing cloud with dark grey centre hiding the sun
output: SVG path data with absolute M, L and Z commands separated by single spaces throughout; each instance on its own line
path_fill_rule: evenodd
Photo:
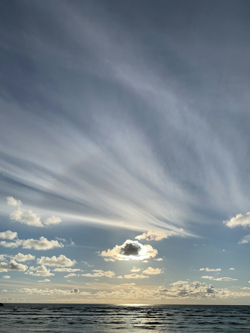
M 144 260 L 155 257 L 157 250 L 151 245 L 143 245 L 137 240 L 127 239 L 122 245 L 116 245 L 112 250 L 102 251 L 102 257 L 111 258 L 113 260 Z

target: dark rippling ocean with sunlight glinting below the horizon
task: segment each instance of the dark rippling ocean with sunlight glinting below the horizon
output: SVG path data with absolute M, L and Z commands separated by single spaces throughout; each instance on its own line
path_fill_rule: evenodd
M 250 332 L 248 305 L 4 304 L 0 332 Z

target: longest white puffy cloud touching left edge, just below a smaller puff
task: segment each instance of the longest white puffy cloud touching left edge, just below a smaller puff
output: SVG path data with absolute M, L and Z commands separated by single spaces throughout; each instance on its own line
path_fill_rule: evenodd
M 40 237 L 39 239 L 16 239 L 15 242 L 6 242 L 5 240 L 0 241 L 0 245 L 9 248 L 15 248 L 22 246 L 24 249 L 35 249 L 35 250 L 49 250 L 54 247 L 64 247 L 64 245 L 57 240 L 48 240 L 45 237 Z

